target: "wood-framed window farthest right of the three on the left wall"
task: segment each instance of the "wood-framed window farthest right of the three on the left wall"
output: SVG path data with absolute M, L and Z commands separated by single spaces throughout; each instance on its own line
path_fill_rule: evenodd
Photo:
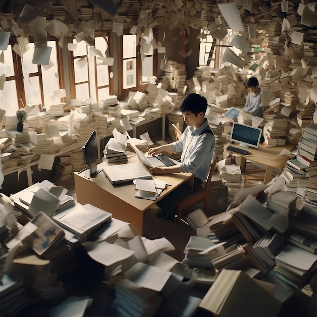
M 146 28 L 139 38 L 124 34 L 119 41 L 119 95 L 128 96 L 129 91 L 146 90 L 149 78 L 157 74 L 155 32 Z

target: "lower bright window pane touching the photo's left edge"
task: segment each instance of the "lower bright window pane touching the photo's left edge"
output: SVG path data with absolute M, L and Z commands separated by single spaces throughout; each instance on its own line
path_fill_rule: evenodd
M 6 81 L 4 89 L 0 90 L 1 105 L 0 108 L 7 111 L 6 115 L 14 116 L 19 109 L 17 88 L 15 81 Z M 20 104 L 20 107 L 22 105 Z

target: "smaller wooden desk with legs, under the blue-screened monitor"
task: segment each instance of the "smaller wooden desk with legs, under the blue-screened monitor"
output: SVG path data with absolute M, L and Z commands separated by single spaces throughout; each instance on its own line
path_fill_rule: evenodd
M 227 144 L 225 146 L 225 153 L 224 157 L 226 157 L 226 151 L 227 151 Z M 234 147 L 243 148 L 241 146 L 233 145 Z M 254 163 L 259 163 L 266 166 L 266 172 L 263 180 L 263 184 L 267 184 L 272 179 L 272 173 L 273 169 L 279 169 L 282 170 L 287 162 L 289 160 L 289 156 L 283 155 L 280 157 L 276 157 L 276 155 L 279 155 L 281 151 L 285 148 L 288 151 L 291 151 L 295 147 L 294 144 L 286 144 L 282 146 L 274 146 L 274 147 L 265 147 L 262 143 L 260 143 L 258 148 L 248 148 L 248 155 L 242 155 L 233 151 L 228 151 L 233 156 L 240 156 L 241 162 L 240 162 L 240 168 L 241 172 L 245 171 L 246 166 L 246 160 L 252 161 Z

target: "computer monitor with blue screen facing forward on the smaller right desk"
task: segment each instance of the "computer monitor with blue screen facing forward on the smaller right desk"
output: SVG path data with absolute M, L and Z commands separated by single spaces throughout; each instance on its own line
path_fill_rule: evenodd
M 258 148 L 262 134 L 261 128 L 234 122 L 231 130 L 230 141 L 239 142 L 242 147 Z

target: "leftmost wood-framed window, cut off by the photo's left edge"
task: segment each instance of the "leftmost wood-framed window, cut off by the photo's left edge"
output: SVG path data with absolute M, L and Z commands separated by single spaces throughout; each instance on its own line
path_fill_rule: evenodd
M 49 107 L 60 103 L 61 99 L 54 95 L 54 91 L 63 88 L 61 51 L 57 42 L 48 41 L 47 45 L 52 47 L 49 65 L 32 64 L 33 43 L 27 44 L 23 61 L 12 49 L 14 44 L 15 39 L 11 39 L 7 50 L 3 51 L 4 64 L 0 63 L 0 71 L 6 75 L 4 89 L 0 91 L 1 107 L 7 111 L 6 115 L 15 115 L 26 104 Z

